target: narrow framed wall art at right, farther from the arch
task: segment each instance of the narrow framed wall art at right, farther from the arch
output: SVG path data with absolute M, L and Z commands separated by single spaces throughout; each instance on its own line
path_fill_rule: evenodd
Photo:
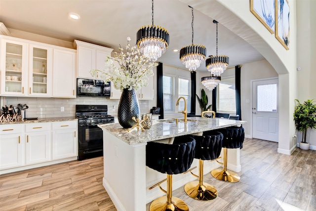
M 287 0 L 276 0 L 276 39 L 288 50 L 290 7 Z

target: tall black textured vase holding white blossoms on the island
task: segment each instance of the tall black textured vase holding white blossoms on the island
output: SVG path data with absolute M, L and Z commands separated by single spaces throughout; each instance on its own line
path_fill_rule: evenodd
M 118 123 L 124 128 L 133 127 L 132 117 L 140 118 L 140 109 L 135 90 L 124 88 L 118 103 Z

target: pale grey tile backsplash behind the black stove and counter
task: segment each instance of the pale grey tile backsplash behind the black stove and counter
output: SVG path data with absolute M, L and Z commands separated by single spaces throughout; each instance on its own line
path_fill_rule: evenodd
M 3 103 L 4 102 L 4 103 Z M 14 108 L 20 103 L 29 106 L 26 109 L 26 118 L 53 118 L 75 117 L 76 105 L 108 105 L 108 114 L 118 115 L 119 100 L 110 100 L 106 97 L 77 97 L 77 98 L 43 98 L 43 97 L 3 97 L 3 105 L 13 105 Z M 138 100 L 141 113 L 149 113 L 149 101 Z M 1 105 L 2 106 L 2 105 Z M 64 107 L 64 111 L 60 111 Z M 16 109 L 17 110 L 17 109 Z

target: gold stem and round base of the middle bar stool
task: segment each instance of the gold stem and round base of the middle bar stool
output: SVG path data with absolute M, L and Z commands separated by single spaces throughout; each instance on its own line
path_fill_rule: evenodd
M 212 185 L 203 183 L 203 160 L 199 159 L 198 181 L 192 181 L 184 186 L 184 191 L 193 199 L 211 201 L 217 197 L 217 190 Z

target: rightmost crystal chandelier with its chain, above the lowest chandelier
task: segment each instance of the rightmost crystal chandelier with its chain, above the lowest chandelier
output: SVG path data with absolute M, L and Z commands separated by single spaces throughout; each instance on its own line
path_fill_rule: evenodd
M 206 59 L 206 68 L 214 76 L 220 76 L 227 68 L 229 64 L 229 57 L 227 55 L 218 55 L 217 53 L 217 24 L 216 20 L 213 20 L 213 23 L 216 23 L 216 55 L 209 56 Z

